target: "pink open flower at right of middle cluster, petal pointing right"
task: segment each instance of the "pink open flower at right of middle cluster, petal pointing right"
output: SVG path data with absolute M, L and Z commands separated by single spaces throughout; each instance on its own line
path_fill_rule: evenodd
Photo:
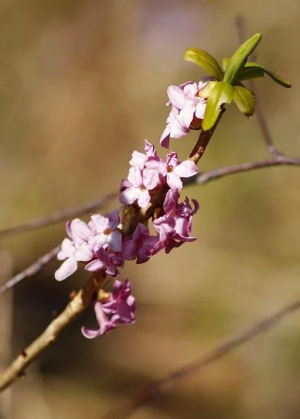
M 180 191 L 183 188 L 183 182 L 180 177 L 190 177 L 198 171 L 194 161 L 178 161 L 176 152 L 171 152 L 166 156 L 166 163 L 156 159 L 147 159 L 145 166 L 152 169 L 156 168 L 160 176 L 166 176 L 166 183 L 173 191 Z

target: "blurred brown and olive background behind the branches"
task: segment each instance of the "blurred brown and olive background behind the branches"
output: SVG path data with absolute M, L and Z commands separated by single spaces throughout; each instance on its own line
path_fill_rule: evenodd
M 230 56 L 236 15 L 248 36 L 264 34 L 259 61 L 293 85 L 264 79 L 256 91 L 276 145 L 299 155 L 298 0 L 2 0 L 0 228 L 115 191 L 144 138 L 159 145 L 168 85 L 205 75 L 180 60 L 185 48 Z M 196 139 L 194 132 L 171 147 L 185 159 Z M 232 105 L 200 169 L 266 156 L 257 121 Z M 299 175 L 270 168 L 186 189 L 201 203 L 199 239 L 122 272 L 138 302 L 136 324 L 88 340 L 80 333 L 95 324 L 87 311 L 3 392 L 1 418 L 101 419 L 142 385 L 299 297 Z M 1 282 L 64 237 L 60 223 L 1 240 Z M 1 296 L 1 368 L 85 281 L 82 270 L 58 283 L 58 266 Z M 299 418 L 299 321 L 287 318 L 131 417 Z

